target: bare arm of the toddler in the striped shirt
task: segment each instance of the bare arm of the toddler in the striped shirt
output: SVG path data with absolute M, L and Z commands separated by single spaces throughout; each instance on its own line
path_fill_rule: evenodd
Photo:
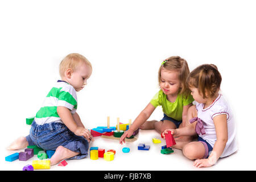
M 88 130 L 86 130 L 84 127 L 77 125 L 72 117 L 71 111 L 67 107 L 57 106 L 57 113 L 61 118 L 61 121 L 63 121 L 64 125 L 67 126 L 68 129 L 71 130 L 75 135 L 83 136 L 88 141 L 92 139 L 92 135 Z

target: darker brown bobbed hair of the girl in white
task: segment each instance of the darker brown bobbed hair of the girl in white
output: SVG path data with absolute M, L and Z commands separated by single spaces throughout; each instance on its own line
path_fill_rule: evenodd
M 203 98 L 207 97 L 207 93 L 209 97 L 213 97 L 220 90 L 221 80 L 221 74 L 216 65 L 203 64 L 189 73 L 187 85 L 199 89 Z

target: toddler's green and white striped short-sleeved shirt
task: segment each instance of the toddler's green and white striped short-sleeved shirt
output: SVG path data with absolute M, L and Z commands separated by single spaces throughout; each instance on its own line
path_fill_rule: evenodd
M 77 96 L 76 90 L 72 85 L 65 81 L 58 80 L 56 85 L 49 91 L 42 107 L 36 113 L 35 122 L 38 125 L 51 122 L 61 122 L 57 113 L 57 106 L 64 106 L 71 110 L 71 113 L 76 113 Z

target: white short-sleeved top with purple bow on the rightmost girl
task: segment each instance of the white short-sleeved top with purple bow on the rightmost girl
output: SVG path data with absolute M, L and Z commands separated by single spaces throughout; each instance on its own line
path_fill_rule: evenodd
M 221 158 L 225 156 L 231 155 L 237 151 L 237 142 L 236 142 L 236 125 L 234 122 L 232 110 L 230 109 L 228 103 L 226 102 L 224 96 L 218 94 L 218 97 L 212 105 L 204 109 L 204 104 L 200 104 L 196 102 L 197 109 L 197 117 L 203 121 L 203 126 L 205 129 L 205 134 L 200 134 L 199 137 L 206 140 L 210 146 L 214 146 L 214 143 L 217 140 L 216 130 L 213 123 L 213 118 L 220 114 L 226 114 L 227 122 L 228 122 L 228 142 L 226 142 L 226 146 Z

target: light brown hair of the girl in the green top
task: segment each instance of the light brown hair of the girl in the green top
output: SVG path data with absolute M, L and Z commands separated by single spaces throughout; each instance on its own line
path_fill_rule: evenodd
M 164 63 L 165 62 L 165 63 Z M 188 63 L 185 59 L 181 58 L 180 56 L 171 56 L 168 59 L 164 60 L 163 64 L 160 66 L 158 71 L 158 82 L 160 85 L 161 82 L 161 70 L 167 69 L 169 71 L 177 71 L 179 72 L 179 80 L 181 82 L 181 89 L 179 91 L 185 98 L 191 93 L 189 90 L 186 79 L 189 74 Z

